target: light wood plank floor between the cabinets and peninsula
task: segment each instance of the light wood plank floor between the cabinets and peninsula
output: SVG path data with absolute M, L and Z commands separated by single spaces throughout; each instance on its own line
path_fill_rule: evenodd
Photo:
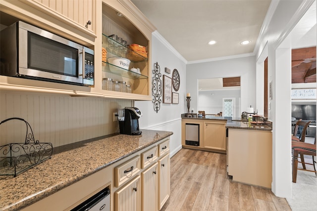
M 226 155 L 181 149 L 170 162 L 171 193 L 161 211 L 291 211 L 271 190 L 229 179 Z

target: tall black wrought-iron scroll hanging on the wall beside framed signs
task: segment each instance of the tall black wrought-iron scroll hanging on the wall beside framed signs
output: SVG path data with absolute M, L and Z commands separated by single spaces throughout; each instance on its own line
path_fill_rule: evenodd
M 154 103 L 154 110 L 158 113 L 162 102 L 162 81 L 160 80 L 162 74 L 160 73 L 158 62 L 154 64 L 154 70 L 152 73 L 154 75 L 152 78 L 152 95 L 154 97 L 152 102 Z

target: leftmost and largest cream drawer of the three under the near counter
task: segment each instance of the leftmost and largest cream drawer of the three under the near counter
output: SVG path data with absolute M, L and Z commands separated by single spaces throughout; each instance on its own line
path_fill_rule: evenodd
M 114 185 L 119 187 L 140 171 L 140 156 L 114 168 Z

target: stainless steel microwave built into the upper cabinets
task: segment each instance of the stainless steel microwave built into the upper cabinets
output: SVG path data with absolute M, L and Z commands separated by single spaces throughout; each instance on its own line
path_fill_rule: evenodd
M 18 21 L 0 32 L 0 74 L 94 85 L 94 51 Z

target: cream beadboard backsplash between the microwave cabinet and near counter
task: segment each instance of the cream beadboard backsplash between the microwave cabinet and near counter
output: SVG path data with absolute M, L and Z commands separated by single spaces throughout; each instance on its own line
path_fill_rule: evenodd
M 1 91 L 0 121 L 22 118 L 31 125 L 35 139 L 56 147 L 119 132 L 112 113 L 126 106 L 133 106 L 133 101 Z M 0 145 L 24 142 L 25 135 L 22 121 L 0 125 Z

